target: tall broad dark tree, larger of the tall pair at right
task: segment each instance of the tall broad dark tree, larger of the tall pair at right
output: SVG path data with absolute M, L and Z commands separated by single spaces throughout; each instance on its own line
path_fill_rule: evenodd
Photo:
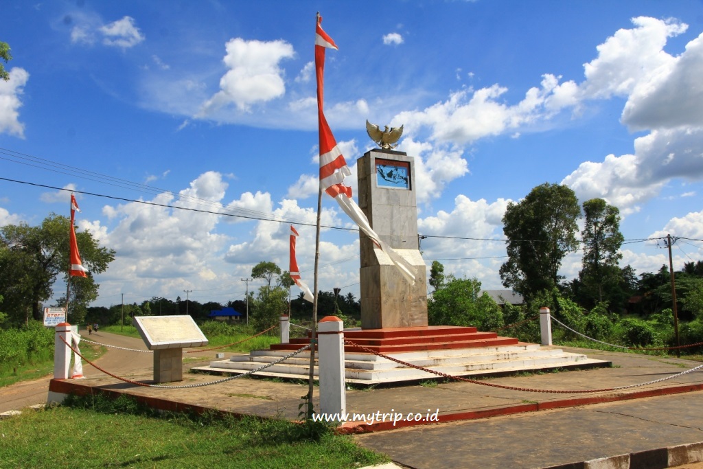
M 542 184 L 520 203 L 509 203 L 503 215 L 508 261 L 500 274 L 506 288 L 526 300 L 559 284 L 562 259 L 579 248 L 576 194 L 567 186 Z

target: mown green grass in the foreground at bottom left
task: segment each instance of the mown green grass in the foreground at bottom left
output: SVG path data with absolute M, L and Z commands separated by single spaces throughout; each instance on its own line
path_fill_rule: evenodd
M 127 396 L 70 397 L 68 404 L 0 420 L 0 467 L 353 468 L 388 461 L 319 423 L 157 413 Z

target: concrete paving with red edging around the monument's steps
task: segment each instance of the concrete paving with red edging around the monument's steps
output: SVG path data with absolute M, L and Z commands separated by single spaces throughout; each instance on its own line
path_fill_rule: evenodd
M 509 388 L 451 382 L 348 390 L 350 415 L 401 413 L 423 418 L 437 411 L 441 423 L 404 420 L 393 425 L 386 417 L 385 422 L 357 422 L 352 428 L 347 425 L 346 430 L 367 432 L 354 438 L 412 468 L 595 469 L 636 467 L 633 463 L 669 467 L 676 461 L 690 463 L 703 458 L 696 456 L 703 448 L 702 371 L 612 390 L 666 378 L 700 362 L 565 350 L 612 361 L 614 367 L 482 380 Z M 307 383 L 250 378 L 205 387 L 160 389 L 122 383 L 95 373 L 87 365 L 84 371 L 89 378 L 53 380 L 51 389 L 105 390 L 134 394 L 162 409 L 212 409 L 292 420 L 297 418 L 298 404 L 307 392 Z M 143 384 L 153 382 L 148 371 L 130 378 Z M 223 379 L 190 373 L 184 373 L 184 378 L 183 383 L 174 385 Z M 547 390 L 559 392 L 543 392 Z M 596 392 L 576 392 L 583 390 Z M 314 402 L 318 403 L 317 394 Z M 668 465 L 646 465 L 654 459 L 661 463 L 662 454 Z M 626 461 L 628 465 L 624 465 Z

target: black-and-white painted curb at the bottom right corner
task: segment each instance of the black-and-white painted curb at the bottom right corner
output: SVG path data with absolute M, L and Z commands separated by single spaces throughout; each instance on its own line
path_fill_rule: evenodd
M 551 465 L 543 469 L 664 469 L 703 462 L 703 442 L 648 449 L 636 453 Z

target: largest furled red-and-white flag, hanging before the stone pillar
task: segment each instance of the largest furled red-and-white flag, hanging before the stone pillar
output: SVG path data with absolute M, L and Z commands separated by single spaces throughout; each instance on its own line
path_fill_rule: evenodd
M 322 188 L 330 197 L 337 200 L 344 213 L 354 220 L 354 223 L 359 225 L 359 229 L 363 231 L 373 242 L 385 252 L 392 262 L 401 271 L 401 274 L 410 283 L 415 283 L 413 275 L 413 266 L 406 261 L 401 255 L 395 252 L 389 245 L 384 243 L 373 231 L 368 218 L 361 211 L 359 205 L 356 205 L 352 199 L 352 188 L 344 185 L 344 178 L 352 174 L 347 167 L 347 162 L 344 160 L 344 155 L 337 146 L 335 136 L 330 130 L 330 126 L 325 119 L 323 113 L 324 101 L 324 75 L 325 75 L 325 48 L 337 49 L 337 44 L 322 30 L 322 17 L 317 15 L 317 29 L 315 34 L 315 72 L 317 77 L 317 115 L 318 127 L 320 130 L 320 188 Z

